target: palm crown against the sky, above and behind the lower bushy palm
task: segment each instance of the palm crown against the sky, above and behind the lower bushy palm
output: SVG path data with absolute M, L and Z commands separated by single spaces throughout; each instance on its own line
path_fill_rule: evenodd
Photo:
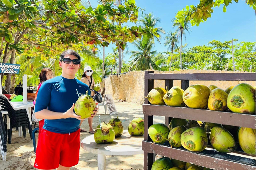
M 160 23 L 160 18 L 156 18 L 153 16 L 153 13 L 149 14 L 144 14 L 143 18 L 139 20 L 139 22 L 142 24 L 142 26 L 145 27 L 152 27 L 155 28 L 157 23 Z M 159 37 L 154 36 L 155 39 L 161 44 L 160 39 L 161 39 L 161 33 L 165 34 L 165 30 L 162 27 L 157 27 L 156 33 L 158 34 Z

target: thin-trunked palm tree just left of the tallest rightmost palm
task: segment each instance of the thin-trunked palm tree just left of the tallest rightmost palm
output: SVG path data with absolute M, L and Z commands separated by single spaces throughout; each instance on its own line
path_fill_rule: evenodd
M 178 48 L 177 43 L 179 43 L 177 33 L 176 32 L 172 33 L 171 31 L 169 33 L 167 33 L 167 36 L 165 37 L 164 46 L 168 45 L 167 52 L 168 52 L 168 50 L 172 51 L 169 71 L 171 71 L 173 50 Z

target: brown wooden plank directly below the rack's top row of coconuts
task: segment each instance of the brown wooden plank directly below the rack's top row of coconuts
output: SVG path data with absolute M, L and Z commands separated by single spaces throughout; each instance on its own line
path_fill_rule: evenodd
M 191 108 L 170 106 L 142 105 L 143 114 L 157 115 L 196 121 L 232 125 L 237 127 L 255 128 L 255 115 L 245 115 L 232 112 L 217 112 Z

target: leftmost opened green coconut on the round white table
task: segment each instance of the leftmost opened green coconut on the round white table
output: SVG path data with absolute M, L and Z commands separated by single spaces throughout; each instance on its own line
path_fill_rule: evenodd
M 101 128 L 100 128 L 101 125 Z M 115 139 L 115 131 L 108 123 L 101 123 L 94 132 L 94 140 L 99 144 L 112 143 Z

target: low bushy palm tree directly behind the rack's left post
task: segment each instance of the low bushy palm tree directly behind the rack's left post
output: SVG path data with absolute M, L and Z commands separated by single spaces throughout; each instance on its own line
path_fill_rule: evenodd
M 152 51 L 155 46 L 154 40 L 143 36 L 142 40 L 132 43 L 138 51 L 126 51 L 131 54 L 130 59 L 133 59 L 129 64 L 135 67 L 135 70 L 150 69 L 150 64 L 153 69 L 157 69 L 157 65 L 152 61 L 151 56 L 155 55 L 157 51 Z

